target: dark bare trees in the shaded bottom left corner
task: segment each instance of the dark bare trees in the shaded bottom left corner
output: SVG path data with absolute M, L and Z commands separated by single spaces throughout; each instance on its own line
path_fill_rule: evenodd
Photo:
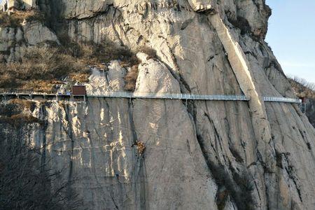
M 1 141 L 0 207 L 1 209 L 80 209 L 77 195 L 67 194 L 71 183 L 51 182 L 61 172 L 53 172 L 41 164 L 41 152 L 28 144 L 10 139 Z

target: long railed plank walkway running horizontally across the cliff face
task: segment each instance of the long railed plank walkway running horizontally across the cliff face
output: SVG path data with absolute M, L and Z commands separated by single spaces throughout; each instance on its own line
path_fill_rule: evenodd
M 244 101 L 250 99 L 245 95 L 205 95 L 205 94 L 177 94 L 177 93 L 148 93 L 148 92 L 107 92 L 104 94 L 58 94 L 57 92 L 35 92 L 25 89 L 0 89 L 0 95 L 4 99 L 10 98 L 27 98 L 36 99 L 41 97 L 43 99 L 62 100 L 62 99 L 83 99 L 87 98 L 124 98 L 124 99 L 180 99 L 180 100 L 205 100 L 205 101 Z M 265 102 L 283 102 L 300 104 L 300 99 L 286 98 L 286 97 L 264 97 Z

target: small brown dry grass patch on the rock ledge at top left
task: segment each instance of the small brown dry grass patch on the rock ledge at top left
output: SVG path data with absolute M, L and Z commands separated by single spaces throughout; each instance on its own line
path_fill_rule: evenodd
M 8 15 L 6 12 L 0 12 L 0 27 L 20 27 L 22 22 L 45 20 L 45 15 L 38 10 L 17 10 L 15 13 Z

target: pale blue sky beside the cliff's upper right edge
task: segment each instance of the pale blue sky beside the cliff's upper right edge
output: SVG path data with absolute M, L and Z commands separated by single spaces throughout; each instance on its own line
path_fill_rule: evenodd
M 266 2 L 272 8 L 266 41 L 283 71 L 315 83 L 315 1 Z

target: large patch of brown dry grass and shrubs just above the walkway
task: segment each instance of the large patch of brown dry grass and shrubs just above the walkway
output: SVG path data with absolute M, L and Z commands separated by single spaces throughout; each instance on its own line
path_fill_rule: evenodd
M 59 39 L 62 45 L 29 48 L 19 62 L 0 62 L 0 88 L 33 88 L 49 92 L 65 76 L 73 82 L 88 82 L 88 65 L 103 66 L 118 59 L 122 66 L 133 66 L 126 76 L 126 90 L 134 90 L 139 60 L 130 49 L 106 39 L 101 43 L 76 43 L 68 36 L 59 36 Z M 154 54 L 153 50 L 143 50 Z

